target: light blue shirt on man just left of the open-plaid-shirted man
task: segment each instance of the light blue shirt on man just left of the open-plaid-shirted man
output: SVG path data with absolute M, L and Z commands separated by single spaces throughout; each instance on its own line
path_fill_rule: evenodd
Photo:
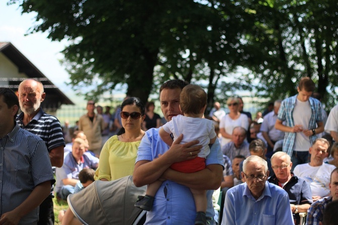
M 284 138 L 284 132 L 274 128 L 277 118 L 277 114 L 275 114 L 274 111 L 271 111 L 265 115 L 263 123 L 260 127 L 260 131 L 266 132 L 270 140 L 274 142 Z

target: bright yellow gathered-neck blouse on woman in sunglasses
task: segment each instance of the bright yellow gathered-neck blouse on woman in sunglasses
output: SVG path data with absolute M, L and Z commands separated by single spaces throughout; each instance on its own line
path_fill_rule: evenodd
M 114 181 L 133 175 L 137 149 L 141 141 L 122 142 L 114 135 L 107 140 L 100 153 L 94 179 Z

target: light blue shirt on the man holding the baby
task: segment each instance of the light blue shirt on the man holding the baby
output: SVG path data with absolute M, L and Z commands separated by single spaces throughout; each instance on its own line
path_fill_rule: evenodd
M 164 154 L 169 149 L 169 146 L 159 137 L 158 130 L 159 128 L 152 128 L 145 133 L 138 148 L 136 162 L 140 160 L 152 161 L 158 157 L 158 154 Z M 210 148 L 205 164 L 220 164 L 223 166 L 223 155 L 218 140 Z M 213 218 L 212 193 L 213 190 L 207 191 L 208 207 L 206 215 Z M 167 180 L 158 189 L 152 209 L 147 212 L 145 224 L 193 225 L 195 216 L 196 207 L 190 189 Z M 209 222 L 215 224 L 215 221 Z

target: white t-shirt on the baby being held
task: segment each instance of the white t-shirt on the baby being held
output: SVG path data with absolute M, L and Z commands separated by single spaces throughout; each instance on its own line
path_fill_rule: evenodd
M 172 133 L 174 141 L 183 134 L 181 144 L 189 141 L 199 140 L 198 145 L 202 145 L 198 157 L 205 158 L 209 152 L 210 139 L 216 137 L 213 122 L 204 118 L 193 118 L 178 115 L 173 117 L 170 122 L 162 126 L 166 133 Z

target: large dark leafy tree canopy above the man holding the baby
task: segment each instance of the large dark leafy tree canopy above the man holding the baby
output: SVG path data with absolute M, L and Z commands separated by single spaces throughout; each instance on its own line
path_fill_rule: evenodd
M 210 63 L 206 58 L 213 57 L 222 32 L 218 10 L 193 1 L 24 0 L 20 6 L 23 13 L 37 12 L 30 32 L 70 41 L 63 51 L 70 84 L 78 92 L 94 84 L 91 97 L 126 83 L 128 95 L 146 101 L 156 65 L 165 68 L 157 83 L 171 75 L 205 78 L 196 69 Z

